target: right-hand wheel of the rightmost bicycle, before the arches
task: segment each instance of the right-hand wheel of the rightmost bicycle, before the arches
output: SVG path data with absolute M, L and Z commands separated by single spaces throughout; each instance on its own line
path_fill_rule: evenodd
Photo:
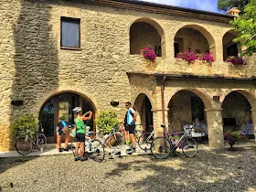
M 197 142 L 191 138 L 187 137 L 181 143 L 182 152 L 185 156 L 192 158 L 197 155 Z

